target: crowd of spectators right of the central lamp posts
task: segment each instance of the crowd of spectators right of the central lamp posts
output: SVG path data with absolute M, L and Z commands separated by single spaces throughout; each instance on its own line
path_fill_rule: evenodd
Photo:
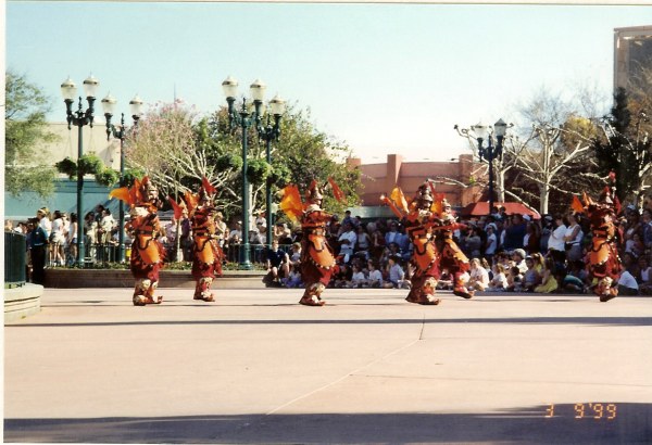
M 461 218 L 454 240 L 471 259 L 467 287 L 480 292 L 588 293 L 586 262 L 591 243 L 588 219 L 581 214 L 506 215 Z M 652 295 L 652 212 L 628 207 L 618 219 L 623 274 L 622 295 Z M 400 220 L 362 221 L 347 212 L 334 215 L 328 242 L 337 258 L 330 287 L 408 288 L 412 274 L 412 244 Z M 289 237 L 300 249 L 301 233 Z M 286 240 L 287 241 L 287 240 Z M 289 245 L 289 244 L 287 244 Z M 280 243 L 279 250 L 284 245 Z M 297 262 L 276 255 L 278 265 L 268 285 L 301 287 Z M 452 289 L 442 270 L 439 289 Z

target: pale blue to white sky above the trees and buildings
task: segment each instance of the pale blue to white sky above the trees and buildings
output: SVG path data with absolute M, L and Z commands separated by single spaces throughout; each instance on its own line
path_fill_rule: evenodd
M 5 64 L 52 99 L 92 74 L 128 115 L 175 97 L 208 114 L 233 76 L 248 94 L 310 110 L 364 163 L 469 152 L 453 129 L 499 118 L 542 89 L 611 94 L 613 30 L 652 25 L 652 5 L 24 2 L 5 3 Z M 146 107 L 147 110 L 147 107 Z M 101 116 L 100 116 L 100 119 Z

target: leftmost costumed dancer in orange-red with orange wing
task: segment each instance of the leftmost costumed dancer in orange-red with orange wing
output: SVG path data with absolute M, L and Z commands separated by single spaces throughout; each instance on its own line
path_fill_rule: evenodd
M 117 198 L 129 204 L 130 220 L 125 229 L 131 234 L 131 255 L 129 266 L 136 279 L 133 302 L 135 306 L 160 304 L 163 296 L 154 296 L 159 285 L 159 271 L 163 267 L 165 249 L 158 240 L 163 233 L 158 211 L 161 206 L 159 191 L 149 177 L 136 179 L 131 188 L 113 190 L 109 196 Z

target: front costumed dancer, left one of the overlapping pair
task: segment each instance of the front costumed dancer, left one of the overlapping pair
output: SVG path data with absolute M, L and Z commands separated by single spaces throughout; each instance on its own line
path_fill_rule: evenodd
M 418 188 L 411 206 L 400 188 L 392 190 L 390 198 L 381 195 L 391 211 L 401 218 L 405 232 L 413 245 L 410 262 L 414 268 L 410 293 L 405 298 L 410 303 L 438 305 L 441 300 L 435 297 L 439 280 L 439 265 L 434 244 L 432 227 L 439 226 L 438 215 L 432 212 L 432 195 L 427 185 Z

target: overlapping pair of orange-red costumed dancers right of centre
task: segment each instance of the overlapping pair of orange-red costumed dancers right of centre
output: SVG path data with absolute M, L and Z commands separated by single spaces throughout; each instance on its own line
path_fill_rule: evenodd
M 401 218 L 413 245 L 410 262 L 414 274 L 405 300 L 423 305 L 439 304 L 441 300 L 435 297 L 435 289 L 442 270 L 453 277 L 455 295 L 473 297 L 473 291 L 465 288 L 462 278 L 469 269 L 468 258 L 452 237 L 453 230 L 463 226 L 455 221 L 443 194 L 434 193 L 431 182 L 426 181 L 418 188 L 411 204 L 398 187 L 390 196 L 383 195 L 380 199 Z

